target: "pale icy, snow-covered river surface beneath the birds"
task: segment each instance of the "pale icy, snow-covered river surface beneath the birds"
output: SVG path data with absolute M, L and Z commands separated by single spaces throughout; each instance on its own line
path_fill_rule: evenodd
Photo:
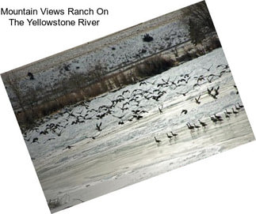
M 226 65 L 219 48 L 24 133 L 47 200 L 61 201 L 52 212 L 253 141 Z M 226 110 L 237 113 L 226 118 Z M 212 122 L 214 114 L 223 120 Z M 207 126 L 189 130 L 198 119 Z M 178 136 L 170 140 L 170 131 Z

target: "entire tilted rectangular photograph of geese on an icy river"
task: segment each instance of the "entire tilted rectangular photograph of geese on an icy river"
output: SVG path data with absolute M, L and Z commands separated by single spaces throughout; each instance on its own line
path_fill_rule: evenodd
M 52 213 L 255 140 L 204 1 L 1 77 Z

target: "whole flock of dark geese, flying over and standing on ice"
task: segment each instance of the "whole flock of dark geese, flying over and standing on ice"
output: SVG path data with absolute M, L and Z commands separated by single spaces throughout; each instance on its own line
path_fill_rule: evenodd
M 41 119 L 39 124 L 46 124 L 44 129 L 41 130 L 39 128 L 33 128 L 32 131 L 36 132 L 36 134 L 27 137 L 25 133 L 25 140 L 31 144 L 45 144 L 49 141 L 55 140 L 56 137 L 60 137 L 65 129 L 69 129 L 71 126 L 75 125 L 80 126 L 82 124 L 87 124 L 88 122 L 90 122 L 87 124 L 88 126 L 92 126 L 91 124 L 94 124 L 94 129 L 93 131 L 90 130 L 90 134 L 88 132 L 84 134 L 83 138 L 90 138 L 91 140 L 95 140 L 102 133 L 102 131 L 109 126 L 109 121 L 116 123 L 117 126 L 124 126 L 124 124 L 128 122 L 137 122 L 146 117 L 147 113 L 149 113 L 146 110 L 147 105 L 156 105 L 158 110 L 156 110 L 154 114 L 159 112 L 161 115 L 165 111 L 162 105 L 162 96 L 164 96 L 166 93 L 173 91 L 174 97 L 187 96 L 189 92 L 195 88 L 200 88 L 202 84 L 212 83 L 216 79 L 222 77 L 224 73 L 230 72 L 229 67 L 224 64 L 216 66 L 216 70 L 218 70 L 219 73 L 211 73 L 212 68 L 213 65 L 209 66 L 208 68 L 202 68 L 205 70 L 205 75 L 200 75 L 198 77 L 193 76 L 193 71 L 190 71 L 189 73 L 184 73 L 176 77 L 172 77 L 174 78 L 173 80 L 168 77 L 166 79 L 162 78 L 160 81 L 139 81 L 137 88 L 135 89 L 131 90 L 124 88 L 124 90 L 120 89 L 116 92 L 109 92 L 109 94 L 113 93 L 113 96 L 101 96 L 99 99 L 103 99 L 105 97 L 105 102 L 98 107 L 92 104 L 94 99 L 78 103 L 71 107 L 65 107 L 57 114 Z M 191 86 L 193 85 L 193 87 L 185 90 L 187 87 L 184 86 L 188 83 Z M 147 89 L 145 89 L 146 86 Z M 238 94 L 239 92 L 235 85 L 234 88 L 236 90 L 236 94 Z M 220 95 L 220 86 L 215 85 L 211 88 L 207 88 L 207 92 L 202 92 L 200 96 L 194 97 L 192 102 L 200 105 L 201 97 L 203 95 L 208 95 L 212 97 L 212 99 L 218 99 L 218 96 Z M 230 118 L 231 114 L 239 114 L 239 109 L 241 108 L 243 108 L 243 105 L 236 103 L 235 106 L 231 108 L 231 110 L 226 109 L 224 111 L 225 118 Z M 76 111 L 77 109 L 79 111 Z M 187 113 L 188 110 L 186 109 L 181 111 L 181 115 L 186 115 Z M 105 118 L 109 117 L 110 119 L 106 121 Z M 222 116 L 216 114 L 211 115 L 210 118 L 215 124 L 216 122 L 221 122 L 224 119 Z M 54 119 L 55 122 L 53 122 Z M 198 119 L 198 122 L 198 124 L 187 122 L 186 126 L 189 130 L 197 130 L 200 127 L 206 128 L 206 126 L 208 126 L 206 122 L 202 122 L 200 119 Z M 39 141 L 40 136 L 47 135 L 49 137 L 43 137 L 42 140 L 44 141 Z M 169 140 L 176 139 L 176 137 L 178 137 L 178 133 L 166 133 L 166 137 Z M 161 140 L 157 139 L 157 137 L 154 138 L 157 145 L 159 145 Z M 67 147 L 63 149 L 69 149 L 72 147 L 73 146 L 71 145 L 67 145 Z

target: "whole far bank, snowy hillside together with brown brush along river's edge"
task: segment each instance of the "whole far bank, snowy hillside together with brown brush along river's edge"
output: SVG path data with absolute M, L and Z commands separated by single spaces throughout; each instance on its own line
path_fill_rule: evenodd
M 204 2 L 196 5 L 206 7 Z M 201 43 L 202 50 L 194 49 L 189 7 L 2 73 L 18 121 L 30 123 L 220 47 L 211 34 L 208 47 Z

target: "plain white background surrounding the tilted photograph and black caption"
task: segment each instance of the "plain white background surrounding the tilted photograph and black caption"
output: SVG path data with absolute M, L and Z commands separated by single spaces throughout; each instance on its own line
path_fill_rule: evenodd
M 11 1 L 1 7 L 109 9 L 98 27 L 10 27 L 0 16 L 0 73 L 131 27 L 197 1 Z M 208 0 L 227 62 L 256 131 L 254 1 Z M 69 17 L 62 17 L 68 19 Z M 0 212 L 50 213 L 29 152 L 0 82 Z M 60 213 L 256 213 L 255 141 Z

